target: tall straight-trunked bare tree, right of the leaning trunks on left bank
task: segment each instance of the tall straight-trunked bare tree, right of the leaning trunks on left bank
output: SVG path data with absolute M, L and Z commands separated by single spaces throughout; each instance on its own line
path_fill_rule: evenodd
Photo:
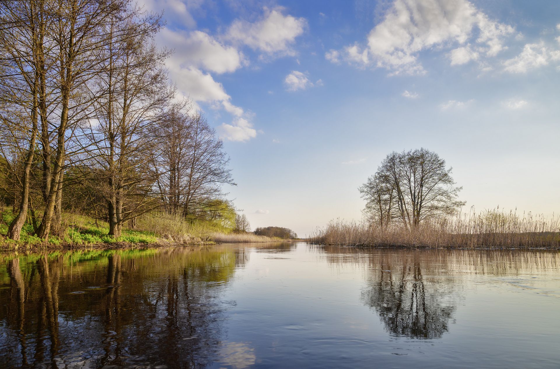
M 151 42 L 160 25 L 160 18 L 138 18 L 133 8 L 104 27 L 106 64 L 95 78 L 99 96 L 86 142 L 95 168 L 92 185 L 105 197 L 109 234 L 115 237 L 123 223 L 158 206 L 151 155 L 164 107 L 174 95 L 163 64 L 169 51 Z

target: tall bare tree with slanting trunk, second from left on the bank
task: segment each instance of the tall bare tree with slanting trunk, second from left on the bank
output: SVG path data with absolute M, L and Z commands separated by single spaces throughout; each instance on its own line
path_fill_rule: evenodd
M 56 3 L 47 32 L 53 35 L 57 49 L 53 83 L 60 96 L 59 120 L 54 129 L 50 186 L 38 231 L 44 239 L 50 234 L 55 207 L 58 214 L 61 211 L 67 141 L 76 126 L 87 119 L 82 112 L 92 103 L 85 100 L 83 89 L 106 60 L 102 51 L 114 36 L 107 34 L 107 25 L 122 14 L 129 0 L 57 0 Z

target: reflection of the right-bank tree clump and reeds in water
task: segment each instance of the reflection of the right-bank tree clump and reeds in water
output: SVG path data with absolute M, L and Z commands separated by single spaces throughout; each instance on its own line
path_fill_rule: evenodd
M 364 270 L 361 300 L 395 337 L 438 339 L 455 323 L 458 275 L 512 276 L 560 267 L 557 252 L 324 247 L 332 264 Z

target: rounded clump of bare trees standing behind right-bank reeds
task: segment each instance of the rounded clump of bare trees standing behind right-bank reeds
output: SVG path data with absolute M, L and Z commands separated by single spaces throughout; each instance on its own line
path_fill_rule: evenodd
M 457 200 L 461 187 L 455 187 L 451 170 L 445 160 L 423 148 L 387 155 L 359 188 L 370 223 L 414 228 L 453 214 L 465 202 Z

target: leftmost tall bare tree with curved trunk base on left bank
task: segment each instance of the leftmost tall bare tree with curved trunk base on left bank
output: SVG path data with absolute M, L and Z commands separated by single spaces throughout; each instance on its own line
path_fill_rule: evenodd
M 20 157 L 23 159 L 17 181 L 20 188 L 18 212 L 7 234 L 14 240 L 20 238 L 27 217 L 39 120 L 43 122 L 45 116 L 45 69 L 48 68 L 45 60 L 50 49 L 45 37 L 50 13 L 48 6 L 48 1 L 43 0 L 5 1 L 0 6 L 2 146 L 16 148 L 15 152 L 12 151 L 12 169 L 18 168 Z M 21 150 L 24 146 L 26 149 Z M 6 151 L 2 150 L 4 158 L 9 157 Z M 18 152 L 20 155 L 16 154 Z M 6 164 L 9 163 L 7 160 Z

